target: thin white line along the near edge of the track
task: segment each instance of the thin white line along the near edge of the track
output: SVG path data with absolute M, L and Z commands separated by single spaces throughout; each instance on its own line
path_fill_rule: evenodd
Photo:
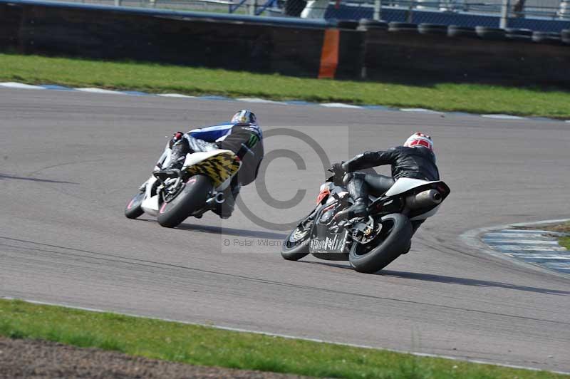
M 557 373 L 557 374 L 563 374 L 563 375 L 570 375 L 569 373 L 566 373 L 564 371 L 549 371 L 549 370 L 544 370 L 542 368 L 534 368 L 534 367 L 527 367 L 527 366 L 520 366 L 520 365 L 508 365 L 508 364 L 504 364 L 504 363 L 495 363 L 492 361 L 486 361 L 486 360 L 477 360 L 477 359 L 468 359 L 468 358 L 457 358 L 457 357 L 452 357 L 450 355 L 438 355 L 438 354 L 429 354 L 429 353 L 414 353 L 413 351 L 405 351 L 405 350 L 395 350 L 395 349 L 388 349 L 388 348 L 377 348 L 374 346 L 366 346 L 366 345 L 358 345 L 356 343 L 342 343 L 342 342 L 335 342 L 335 341 L 326 341 L 326 340 L 321 340 L 318 338 L 307 338 L 307 337 L 296 337 L 296 336 L 291 336 L 288 334 L 279 334 L 279 333 L 269 333 L 269 332 L 264 332 L 264 331 L 251 331 L 249 329 L 242 329 L 242 328 L 232 328 L 229 326 L 217 326 L 217 325 L 212 325 L 212 324 L 203 324 L 203 323 L 190 323 L 188 321 L 179 321 L 179 320 L 173 320 L 172 318 L 160 318 L 160 317 L 150 317 L 150 316 L 140 316 L 137 314 L 133 314 L 133 313 L 122 313 L 122 312 L 115 312 L 115 311 L 105 311 L 104 309 L 98 309 L 98 308 L 86 308 L 86 307 L 82 307 L 82 306 L 70 306 L 68 304 L 63 304 L 63 303 L 50 303 L 47 301 L 36 301 L 36 300 L 28 300 L 25 298 L 14 298 L 14 297 L 10 297 L 10 296 L 4 296 L 1 298 L 5 298 L 6 300 L 21 300 L 21 301 L 26 301 L 26 303 L 33 303 L 33 304 L 39 304 L 39 305 L 46 305 L 46 306 L 63 306 L 65 308 L 71 308 L 71 309 L 79 309 L 81 311 L 90 311 L 90 312 L 98 312 L 98 313 L 115 313 L 115 314 L 121 314 L 121 315 L 125 315 L 125 316 L 131 316 L 131 317 L 136 317 L 136 318 L 150 318 L 151 320 L 160 320 L 160 321 L 168 321 L 168 322 L 172 322 L 172 323 L 183 323 L 185 325 L 196 325 L 196 326 L 206 326 L 209 328 L 216 328 L 216 329 L 221 329 L 224 331 L 235 331 L 235 332 L 241 332 L 241 333 L 254 333 L 254 334 L 261 334 L 263 336 L 271 336 L 271 337 L 280 337 L 280 338 L 286 338 L 286 339 L 295 339 L 295 340 L 301 340 L 301 341 L 311 341 L 311 342 L 318 342 L 318 343 L 331 343 L 333 345 L 339 345 L 339 346 L 351 346 L 353 348 L 365 348 L 365 349 L 370 349 L 370 350 L 383 350 L 383 351 L 392 351 L 394 353 L 404 353 L 404 354 L 410 354 L 410 355 L 415 355 L 415 356 L 419 356 L 419 357 L 431 357 L 431 358 L 444 358 L 444 359 L 449 359 L 449 360 L 455 360 L 455 361 L 459 361 L 459 362 L 470 362 L 470 363 L 479 363 L 482 365 L 497 365 L 497 366 L 501 366 L 501 367 L 509 367 L 509 368 L 520 368 L 522 370 L 532 370 L 532 371 L 546 371 L 549 373 Z

